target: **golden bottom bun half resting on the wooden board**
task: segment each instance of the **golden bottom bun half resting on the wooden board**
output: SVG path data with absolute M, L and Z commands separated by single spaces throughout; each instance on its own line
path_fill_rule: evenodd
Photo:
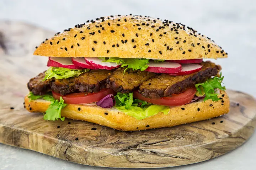
M 67 104 L 61 115 L 65 118 L 85 120 L 122 131 L 137 131 L 171 127 L 195 121 L 206 120 L 229 112 L 229 98 L 225 91 L 220 91 L 219 101 L 198 101 L 183 106 L 170 107 L 169 114 L 159 112 L 151 117 L 137 120 L 118 111 L 116 108 L 101 108 L 96 104 Z M 25 106 L 29 112 L 45 112 L 50 102 L 31 100 L 25 97 Z

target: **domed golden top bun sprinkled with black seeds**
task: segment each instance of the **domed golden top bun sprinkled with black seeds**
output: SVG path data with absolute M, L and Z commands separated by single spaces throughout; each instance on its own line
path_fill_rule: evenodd
M 147 16 L 109 16 L 78 24 L 43 41 L 34 55 L 161 60 L 225 58 L 213 40 L 191 27 Z

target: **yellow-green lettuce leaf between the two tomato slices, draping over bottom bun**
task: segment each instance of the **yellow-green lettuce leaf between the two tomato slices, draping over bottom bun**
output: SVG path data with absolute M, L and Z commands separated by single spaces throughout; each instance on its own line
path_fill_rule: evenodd
M 139 99 L 133 100 L 133 93 L 122 94 L 118 92 L 114 98 L 116 100 L 116 108 L 119 111 L 122 111 L 138 120 L 153 116 L 159 112 L 168 114 L 170 111 L 168 106 L 151 104 Z

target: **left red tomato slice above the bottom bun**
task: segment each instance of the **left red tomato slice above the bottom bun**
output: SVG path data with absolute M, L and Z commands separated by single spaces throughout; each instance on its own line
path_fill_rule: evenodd
M 60 98 L 60 94 L 55 93 L 52 91 L 53 97 L 55 99 Z M 103 97 L 113 94 L 115 95 L 116 92 L 114 92 L 112 89 L 102 89 L 99 92 L 96 93 L 73 93 L 69 95 L 62 96 L 64 103 L 67 104 L 86 104 L 86 103 L 92 103 L 100 101 Z

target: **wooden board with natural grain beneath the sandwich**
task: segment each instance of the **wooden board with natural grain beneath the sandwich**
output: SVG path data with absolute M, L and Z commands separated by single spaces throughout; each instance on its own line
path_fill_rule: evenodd
M 23 108 L 27 81 L 46 69 L 34 47 L 54 33 L 24 23 L 0 22 L 0 142 L 79 164 L 159 168 L 218 157 L 244 143 L 256 125 L 256 101 L 230 91 L 230 113 L 173 128 L 122 132 L 83 121 L 45 121 Z M 13 107 L 13 108 L 11 108 Z

